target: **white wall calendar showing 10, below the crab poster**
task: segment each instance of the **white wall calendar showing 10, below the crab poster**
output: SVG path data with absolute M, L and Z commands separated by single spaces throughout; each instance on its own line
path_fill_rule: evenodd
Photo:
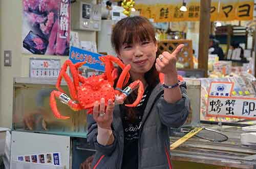
M 59 59 L 30 59 L 30 78 L 57 78 L 59 71 Z

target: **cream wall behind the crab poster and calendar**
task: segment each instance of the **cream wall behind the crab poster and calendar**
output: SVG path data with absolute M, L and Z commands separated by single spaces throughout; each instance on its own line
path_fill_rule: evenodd
M 74 12 L 74 11 L 72 11 Z M 95 41 L 94 32 L 77 31 L 80 40 Z M 4 51 L 12 51 L 12 66 L 4 66 Z M 13 77 L 29 76 L 29 58 L 56 58 L 61 64 L 68 56 L 22 54 L 22 0 L 0 0 L 0 127 L 11 127 Z

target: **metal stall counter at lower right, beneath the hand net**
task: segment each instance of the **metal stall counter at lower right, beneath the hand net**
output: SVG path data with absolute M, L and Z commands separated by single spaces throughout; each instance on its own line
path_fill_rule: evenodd
M 201 125 L 222 132 L 228 140 L 212 142 L 190 138 L 171 151 L 174 168 L 256 168 L 256 144 L 241 144 L 241 134 L 248 131 L 237 126 Z M 173 135 L 170 142 L 179 138 Z

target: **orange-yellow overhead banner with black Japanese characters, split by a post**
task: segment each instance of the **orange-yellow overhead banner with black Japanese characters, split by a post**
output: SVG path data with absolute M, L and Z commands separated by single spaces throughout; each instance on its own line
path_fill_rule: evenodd
M 199 21 L 200 1 L 187 2 L 186 12 L 180 11 L 182 2 L 175 4 L 136 4 L 135 9 L 141 16 L 153 18 L 154 22 Z M 253 0 L 212 0 L 210 8 L 211 21 L 253 20 Z

